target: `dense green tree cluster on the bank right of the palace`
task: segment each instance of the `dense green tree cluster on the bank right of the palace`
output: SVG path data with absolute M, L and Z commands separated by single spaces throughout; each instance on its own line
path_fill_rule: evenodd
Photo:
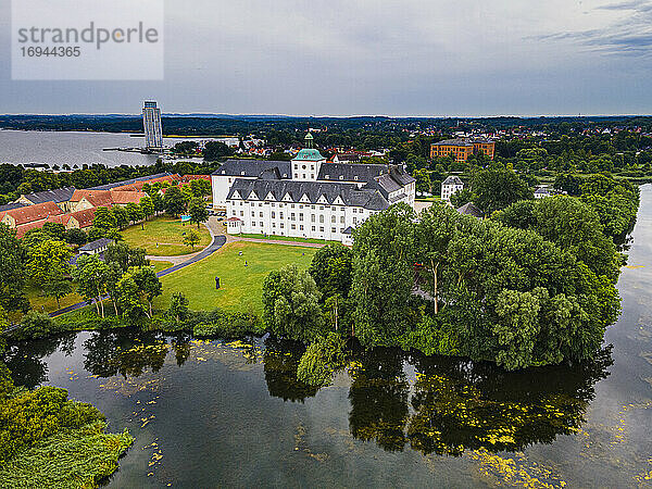
M 509 170 L 494 173 L 497 185 L 514 181 Z M 329 358 L 329 331 L 366 348 L 465 355 L 509 369 L 591 359 L 619 313 L 622 258 L 590 202 L 514 200 L 489 208 L 504 208 L 491 220 L 438 202 L 419 214 L 391 206 L 356 229 L 353 250 L 321 249 L 310 274 L 273 272 L 264 319 L 276 335 L 318 342 L 305 359 L 313 366 Z

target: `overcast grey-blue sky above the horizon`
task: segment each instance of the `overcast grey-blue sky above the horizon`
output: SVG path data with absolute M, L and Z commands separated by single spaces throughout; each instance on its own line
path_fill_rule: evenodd
M 162 82 L 12 82 L 10 18 L 0 113 L 652 113 L 648 0 L 166 0 Z

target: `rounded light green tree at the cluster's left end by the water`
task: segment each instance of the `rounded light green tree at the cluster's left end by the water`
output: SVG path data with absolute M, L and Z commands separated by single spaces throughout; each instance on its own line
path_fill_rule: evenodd
M 279 337 L 312 341 L 325 335 L 315 280 L 296 265 L 271 272 L 263 283 L 263 318 Z

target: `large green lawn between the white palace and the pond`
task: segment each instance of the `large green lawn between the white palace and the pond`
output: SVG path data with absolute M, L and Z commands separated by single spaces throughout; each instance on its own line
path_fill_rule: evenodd
M 161 278 L 163 296 L 154 305 L 167 309 L 172 294 L 183 292 L 190 309 L 196 311 L 220 306 L 260 316 L 263 280 L 267 274 L 290 263 L 305 269 L 316 251 L 316 248 L 246 241 L 225 244 L 211 256 Z M 215 290 L 216 276 L 221 281 L 220 290 Z

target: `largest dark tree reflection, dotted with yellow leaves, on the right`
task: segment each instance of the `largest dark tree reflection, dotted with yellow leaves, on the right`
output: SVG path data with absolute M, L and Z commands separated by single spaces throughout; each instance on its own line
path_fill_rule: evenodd
M 516 451 L 576 432 L 609 375 L 611 352 L 575 366 L 510 373 L 488 363 L 450 358 L 410 359 L 417 372 L 409 384 L 396 351 L 366 353 L 352 372 L 350 430 L 385 450 L 410 443 L 425 454 L 460 455 L 466 449 Z M 412 408 L 412 414 L 409 414 Z

